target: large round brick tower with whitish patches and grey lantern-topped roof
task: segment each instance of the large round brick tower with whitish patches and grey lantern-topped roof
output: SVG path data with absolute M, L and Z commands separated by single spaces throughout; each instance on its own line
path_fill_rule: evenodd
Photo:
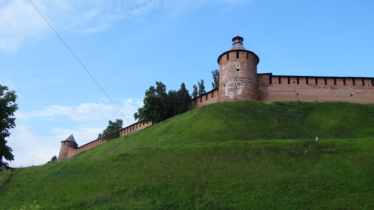
M 232 39 L 231 49 L 218 57 L 218 102 L 243 99 L 258 101 L 257 64 L 260 60 L 254 52 L 244 48 L 243 40 L 237 34 Z

